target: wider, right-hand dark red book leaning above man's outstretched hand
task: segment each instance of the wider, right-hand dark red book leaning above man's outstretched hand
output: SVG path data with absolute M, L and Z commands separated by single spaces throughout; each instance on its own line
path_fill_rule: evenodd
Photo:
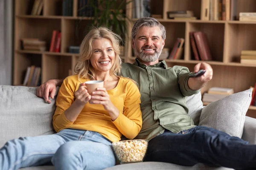
M 193 35 L 195 37 L 196 46 L 198 48 L 201 60 L 212 60 L 212 55 L 206 34 L 204 34 L 201 31 L 198 31 L 193 32 Z

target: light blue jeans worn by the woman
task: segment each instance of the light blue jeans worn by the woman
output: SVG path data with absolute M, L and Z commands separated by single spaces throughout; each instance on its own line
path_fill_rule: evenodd
M 64 129 L 52 135 L 14 139 L 0 149 L 0 170 L 51 162 L 56 170 L 102 170 L 116 163 L 111 142 L 88 130 Z

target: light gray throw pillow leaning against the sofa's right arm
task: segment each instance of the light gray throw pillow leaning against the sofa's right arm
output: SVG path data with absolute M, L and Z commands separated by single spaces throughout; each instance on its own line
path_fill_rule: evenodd
M 212 102 L 203 108 L 199 125 L 241 138 L 251 99 L 252 88 Z

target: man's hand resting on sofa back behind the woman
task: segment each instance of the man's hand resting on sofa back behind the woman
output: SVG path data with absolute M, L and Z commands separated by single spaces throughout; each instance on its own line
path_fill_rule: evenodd
M 51 103 L 49 96 L 53 99 L 56 93 L 56 86 L 60 83 L 62 84 L 63 80 L 58 79 L 49 79 L 44 84 L 40 85 L 37 90 L 37 96 L 43 97 L 44 100 L 48 103 Z

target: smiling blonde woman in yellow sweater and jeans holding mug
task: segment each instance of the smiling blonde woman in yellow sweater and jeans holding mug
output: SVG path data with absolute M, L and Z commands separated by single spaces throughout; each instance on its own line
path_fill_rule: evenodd
M 56 134 L 9 141 L 0 150 L 0 169 L 18 169 L 52 161 L 57 170 L 98 170 L 115 165 L 111 142 L 133 139 L 142 126 L 140 92 L 120 76 L 120 37 L 94 28 L 81 43 L 76 75 L 58 92 L 53 127 Z M 103 80 L 92 95 L 88 80 Z M 93 99 L 92 104 L 88 101 Z

